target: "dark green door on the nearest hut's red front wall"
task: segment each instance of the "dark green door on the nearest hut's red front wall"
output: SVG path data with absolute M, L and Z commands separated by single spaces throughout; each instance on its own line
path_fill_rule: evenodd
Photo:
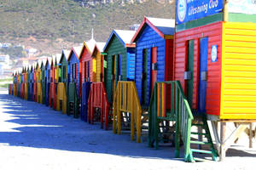
M 190 40 L 188 43 L 188 58 L 186 71 L 184 75 L 186 83 L 186 94 L 189 101 L 189 106 L 192 108 L 193 100 L 193 72 L 194 72 L 194 40 Z

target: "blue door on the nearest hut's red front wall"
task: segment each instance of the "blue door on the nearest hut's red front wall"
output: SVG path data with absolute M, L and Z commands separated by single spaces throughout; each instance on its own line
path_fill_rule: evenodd
M 198 112 L 206 112 L 207 104 L 207 59 L 208 59 L 208 37 L 200 40 L 200 65 L 199 65 L 199 92 Z

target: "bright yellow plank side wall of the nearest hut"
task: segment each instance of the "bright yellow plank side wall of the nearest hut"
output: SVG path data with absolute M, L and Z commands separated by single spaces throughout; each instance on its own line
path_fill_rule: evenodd
M 256 24 L 223 25 L 220 119 L 256 119 Z

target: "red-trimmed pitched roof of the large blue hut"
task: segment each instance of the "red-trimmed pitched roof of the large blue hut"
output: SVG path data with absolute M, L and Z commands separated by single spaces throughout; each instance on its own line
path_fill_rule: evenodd
M 136 42 L 137 37 L 140 36 L 146 25 L 150 26 L 160 35 L 160 37 L 164 39 L 169 38 L 168 36 L 173 36 L 175 33 L 175 20 L 144 17 L 142 24 L 138 28 L 134 37 L 132 37 L 131 42 Z

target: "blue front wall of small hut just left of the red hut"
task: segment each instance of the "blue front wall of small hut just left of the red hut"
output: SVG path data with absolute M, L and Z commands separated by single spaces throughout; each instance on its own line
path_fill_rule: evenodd
M 75 82 L 76 82 L 76 87 L 77 87 L 77 94 L 79 95 L 79 59 L 76 56 L 76 54 L 74 54 L 73 51 L 72 51 L 72 54 L 71 54 L 70 59 L 68 61 L 68 70 L 70 72 L 70 74 L 69 74 L 70 82 L 74 82 L 73 77 L 72 77 L 72 75 L 73 75 L 72 65 L 75 64 L 75 63 L 77 64 L 77 79 L 76 79 Z

